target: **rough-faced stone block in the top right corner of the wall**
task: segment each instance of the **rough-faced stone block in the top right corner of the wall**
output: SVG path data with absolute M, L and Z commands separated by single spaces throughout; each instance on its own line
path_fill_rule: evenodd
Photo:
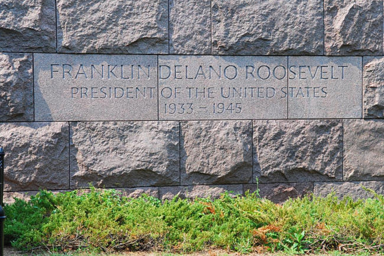
M 327 55 L 382 54 L 382 0 L 325 0 Z

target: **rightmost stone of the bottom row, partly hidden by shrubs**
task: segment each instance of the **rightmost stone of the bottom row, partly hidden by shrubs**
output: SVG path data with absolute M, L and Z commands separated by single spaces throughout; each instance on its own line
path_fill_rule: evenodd
M 315 182 L 313 194 L 316 196 L 326 196 L 334 192 L 339 198 L 350 196 L 353 199 L 374 197 L 374 195 L 363 187 L 374 190 L 378 194 L 384 194 L 384 181 L 346 181 L 346 182 Z

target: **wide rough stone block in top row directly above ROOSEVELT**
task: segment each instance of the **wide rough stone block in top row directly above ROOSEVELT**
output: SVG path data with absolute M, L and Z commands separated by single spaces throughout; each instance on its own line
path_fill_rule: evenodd
M 212 0 L 212 53 L 320 55 L 322 13 L 322 0 Z

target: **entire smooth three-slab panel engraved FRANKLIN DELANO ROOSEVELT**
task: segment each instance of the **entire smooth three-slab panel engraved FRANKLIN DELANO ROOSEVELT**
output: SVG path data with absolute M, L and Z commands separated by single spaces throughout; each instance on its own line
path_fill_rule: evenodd
M 36 53 L 34 84 L 37 121 L 361 117 L 361 57 Z

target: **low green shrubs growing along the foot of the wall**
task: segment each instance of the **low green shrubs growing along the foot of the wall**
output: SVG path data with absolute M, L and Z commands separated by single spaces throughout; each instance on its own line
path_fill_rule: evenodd
M 20 249 L 52 251 L 383 252 L 384 197 L 371 192 L 373 199 L 330 194 L 278 205 L 257 192 L 161 202 L 94 187 L 82 194 L 40 191 L 29 202 L 5 205 L 5 237 Z

